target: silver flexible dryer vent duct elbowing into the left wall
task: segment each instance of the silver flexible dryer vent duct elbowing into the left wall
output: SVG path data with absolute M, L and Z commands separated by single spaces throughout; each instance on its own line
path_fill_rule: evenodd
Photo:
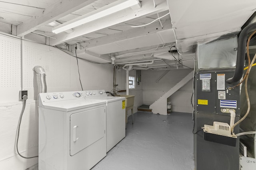
M 46 74 L 44 68 L 41 66 L 34 66 L 33 70 L 36 72 L 36 82 L 37 82 L 37 111 L 39 106 L 39 93 L 46 93 Z

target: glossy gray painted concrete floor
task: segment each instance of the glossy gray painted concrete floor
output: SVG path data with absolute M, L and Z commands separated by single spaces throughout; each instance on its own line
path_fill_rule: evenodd
M 128 118 L 126 137 L 92 170 L 194 170 L 192 114 Z

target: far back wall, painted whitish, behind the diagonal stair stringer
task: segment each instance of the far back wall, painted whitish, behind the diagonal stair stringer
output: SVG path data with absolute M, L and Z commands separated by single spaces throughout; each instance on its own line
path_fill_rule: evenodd
M 143 103 L 150 105 L 158 100 L 163 94 L 175 86 L 182 78 L 191 72 L 190 69 L 170 70 L 159 82 L 156 80 L 162 76 L 166 70 L 142 70 Z M 192 80 L 180 88 L 168 102 L 172 102 L 172 111 L 192 113 L 193 108 L 190 102 L 192 95 Z M 167 104 L 166 104 L 167 105 Z

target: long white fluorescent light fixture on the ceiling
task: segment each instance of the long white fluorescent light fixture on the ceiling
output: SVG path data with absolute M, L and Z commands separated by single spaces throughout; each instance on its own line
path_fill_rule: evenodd
M 60 33 L 62 31 L 66 31 L 67 29 L 71 29 L 79 25 L 82 25 L 84 23 L 97 20 L 99 18 L 108 16 L 110 14 L 124 10 L 129 7 L 131 7 L 134 10 L 139 9 L 141 7 L 140 1 L 139 0 L 118 0 L 102 8 L 89 12 L 88 14 L 85 14 L 83 16 L 70 20 L 66 23 L 62 23 L 61 25 L 54 27 L 52 29 L 52 32 Z

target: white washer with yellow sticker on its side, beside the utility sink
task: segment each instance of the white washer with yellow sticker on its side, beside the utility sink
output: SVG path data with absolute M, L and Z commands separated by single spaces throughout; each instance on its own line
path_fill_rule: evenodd
M 106 101 L 107 152 L 125 137 L 125 97 L 107 96 L 105 90 L 83 91 L 93 100 Z

